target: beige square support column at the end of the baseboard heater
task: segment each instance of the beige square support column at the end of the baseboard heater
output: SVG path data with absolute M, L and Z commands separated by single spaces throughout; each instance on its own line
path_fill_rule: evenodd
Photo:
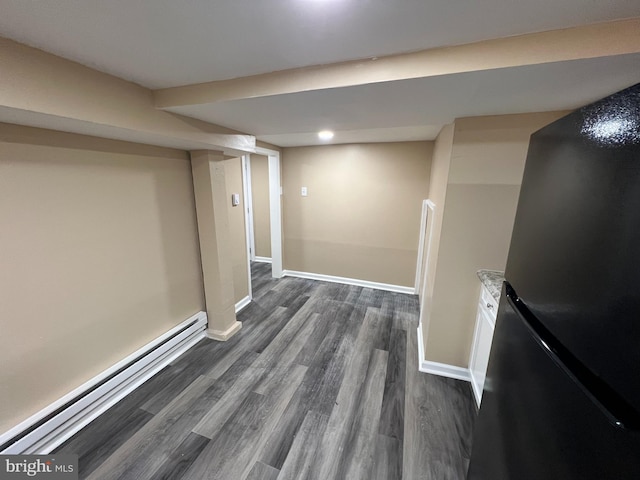
M 191 152 L 200 257 L 207 303 L 207 336 L 225 341 L 242 328 L 236 320 L 231 238 L 222 152 Z

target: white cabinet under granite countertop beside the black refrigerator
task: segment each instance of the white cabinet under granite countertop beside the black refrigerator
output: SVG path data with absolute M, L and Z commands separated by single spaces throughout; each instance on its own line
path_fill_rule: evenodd
M 476 329 L 473 335 L 471 356 L 469 358 L 471 386 L 473 387 L 473 393 L 478 407 L 482 400 L 482 389 L 484 387 L 484 379 L 487 375 L 487 365 L 489 364 L 489 352 L 491 351 L 493 330 L 496 325 L 497 310 L 498 302 L 491 296 L 489 290 L 482 285 L 480 301 L 478 303 L 478 313 L 476 315 Z

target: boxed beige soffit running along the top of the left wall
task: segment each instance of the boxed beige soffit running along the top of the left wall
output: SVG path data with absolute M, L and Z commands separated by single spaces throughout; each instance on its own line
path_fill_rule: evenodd
M 253 150 L 255 137 L 155 108 L 153 92 L 0 37 L 0 110 L 13 122 L 181 149 Z

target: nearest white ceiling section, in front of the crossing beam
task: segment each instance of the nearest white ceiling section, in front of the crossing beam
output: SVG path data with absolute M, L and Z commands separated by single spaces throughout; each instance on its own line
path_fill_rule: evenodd
M 638 0 L 0 0 L 0 34 L 149 88 L 640 16 Z

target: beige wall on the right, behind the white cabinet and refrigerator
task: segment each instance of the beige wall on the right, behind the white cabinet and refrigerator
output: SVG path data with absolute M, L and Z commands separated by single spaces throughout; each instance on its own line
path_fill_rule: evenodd
M 504 270 L 529 137 L 562 115 L 456 120 L 433 297 L 423 325 L 427 360 L 467 367 L 479 292 L 476 271 Z

